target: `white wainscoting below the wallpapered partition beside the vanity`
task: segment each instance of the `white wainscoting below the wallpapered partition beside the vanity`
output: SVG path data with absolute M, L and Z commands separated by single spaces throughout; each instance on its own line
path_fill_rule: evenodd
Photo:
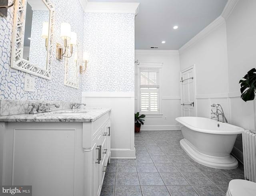
M 111 158 L 136 158 L 134 92 L 82 92 L 82 103 L 112 109 Z

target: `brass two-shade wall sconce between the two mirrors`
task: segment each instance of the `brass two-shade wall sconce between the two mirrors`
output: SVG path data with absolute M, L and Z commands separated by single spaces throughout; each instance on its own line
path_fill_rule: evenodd
M 60 38 L 64 40 L 64 47 L 62 47 L 59 43 L 57 43 L 57 59 L 63 59 L 63 57 L 71 57 L 73 53 L 73 47 L 76 47 L 76 38 L 77 35 L 75 32 L 71 32 L 70 24 L 66 22 L 62 22 L 60 24 Z M 69 42 L 68 42 L 69 41 Z M 70 56 L 64 56 L 66 50 L 70 46 Z M 63 51 L 64 49 L 64 51 Z

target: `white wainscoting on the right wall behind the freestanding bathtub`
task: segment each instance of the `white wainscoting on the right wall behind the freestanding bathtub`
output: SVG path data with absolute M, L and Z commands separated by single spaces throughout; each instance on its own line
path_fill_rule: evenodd
M 216 109 L 211 107 L 213 103 L 219 103 L 225 113 L 229 124 L 242 127 L 244 129 L 256 129 L 256 101 L 244 102 L 240 98 L 239 91 L 232 93 L 196 95 L 196 107 L 198 117 L 211 117 L 211 109 L 215 112 Z M 232 154 L 243 162 L 242 152 L 242 135 L 239 134 Z

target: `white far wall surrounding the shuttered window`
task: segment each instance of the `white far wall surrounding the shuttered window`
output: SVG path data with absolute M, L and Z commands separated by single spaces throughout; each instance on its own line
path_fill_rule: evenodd
M 177 130 L 180 126 L 176 117 L 180 117 L 180 61 L 177 50 L 135 50 L 135 59 L 146 62 L 163 62 L 160 78 L 161 114 L 156 117 L 146 115 L 141 130 Z M 137 64 L 135 63 L 135 83 L 137 84 Z M 135 112 L 137 105 L 137 85 L 135 85 Z M 166 120 L 164 119 L 166 117 Z

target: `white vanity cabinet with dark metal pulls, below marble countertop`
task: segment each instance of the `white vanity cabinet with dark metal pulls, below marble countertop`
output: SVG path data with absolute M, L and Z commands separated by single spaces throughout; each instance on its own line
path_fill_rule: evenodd
M 0 122 L 0 184 L 33 196 L 100 196 L 111 110 L 92 122 Z

